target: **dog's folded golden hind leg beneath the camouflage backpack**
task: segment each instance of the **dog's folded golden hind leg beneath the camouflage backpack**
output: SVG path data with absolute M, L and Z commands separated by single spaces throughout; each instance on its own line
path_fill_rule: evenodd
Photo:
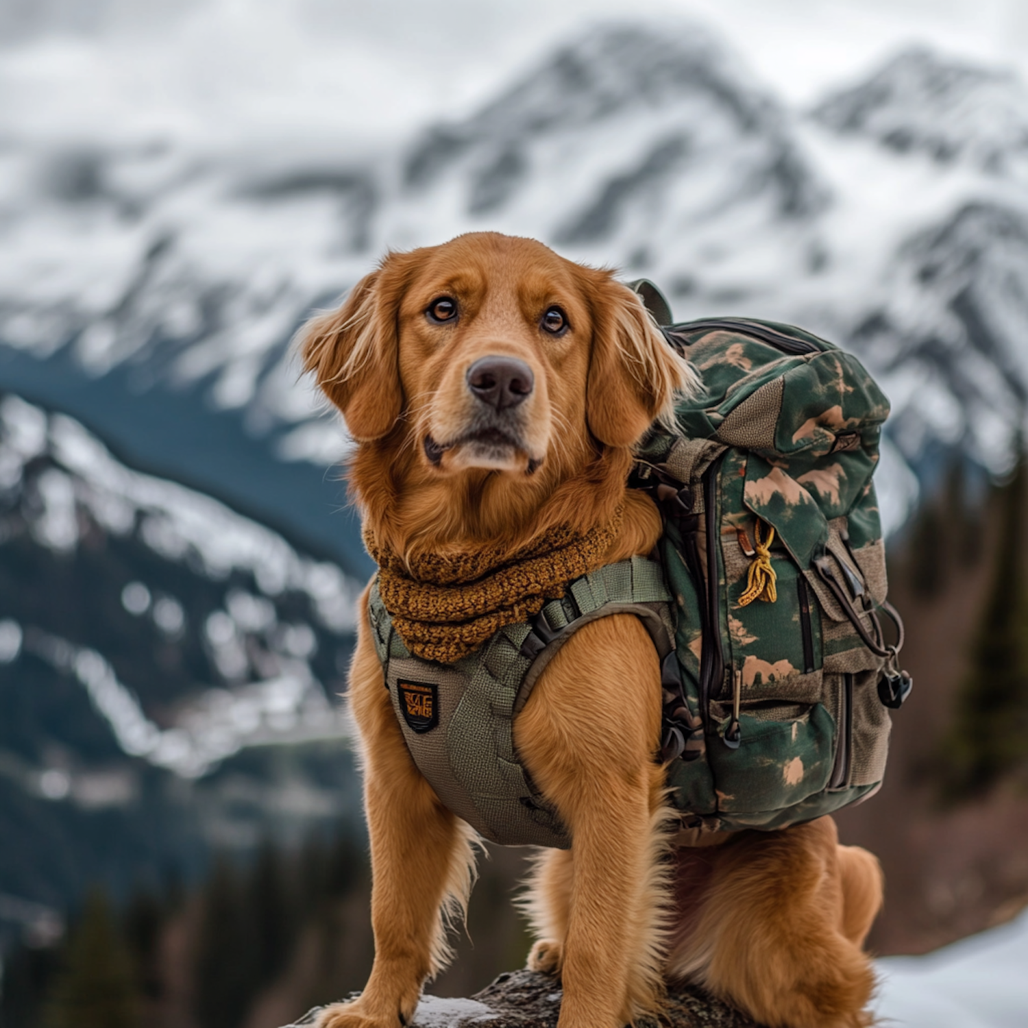
M 703 985 L 771 1028 L 871 1024 L 865 1008 L 875 978 L 854 937 L 877 910 L 876 880 L 861 864 L 868 892 L 854 893 L 858 918 L 846 901 L 857 865 L 850 857 L 840 864 L 841 849 L 831 817 L 745 833 L 719 847 L 696 929 L 671 954 L 669 975 Z

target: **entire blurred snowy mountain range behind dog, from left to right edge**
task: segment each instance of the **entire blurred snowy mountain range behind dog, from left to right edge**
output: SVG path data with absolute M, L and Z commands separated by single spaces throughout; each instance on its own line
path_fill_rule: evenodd
M 0 375 L 361 573 L 324 477 L 345 437 L 290 335 L 389 247 L 499 229 L 652 278 L 681 319 L 778 318 L 854 348 L 893 401 L 894 527 L 946 453 L 1001 470 L 1023 415 L 1024 95 L 912 51 L 806 114 L 700 28 L 613 24 L 374 152 L 14 134 Z

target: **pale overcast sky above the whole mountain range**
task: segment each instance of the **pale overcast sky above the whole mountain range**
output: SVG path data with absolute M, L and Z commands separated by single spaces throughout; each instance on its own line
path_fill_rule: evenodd
M 0 0 L 0 131 L 356 145 L 609 17 L 710 25 L 799 104 L 912 43 L 1028 77 L 1028 0 Z

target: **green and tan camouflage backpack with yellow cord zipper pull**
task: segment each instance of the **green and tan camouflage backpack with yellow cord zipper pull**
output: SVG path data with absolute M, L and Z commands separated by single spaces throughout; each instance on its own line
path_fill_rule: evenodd
M 888 401 L 823 339 L 749 319 L 667 325 L 655 288 L 634 288 L 703 383 L 676 408 L 681 434 L 651 431 L 631 482 L 665 522 L 672 802 L 700 832 L 831 813 L 880 786 L 887 708 L 911 688 L 872 482 Z

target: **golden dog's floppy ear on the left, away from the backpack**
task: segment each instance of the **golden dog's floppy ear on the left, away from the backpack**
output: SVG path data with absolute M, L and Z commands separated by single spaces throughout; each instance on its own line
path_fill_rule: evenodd
M 339 408 L 358 442 L 388 435 L 403 411 L 397 316 L 405 283 L 394 256 L 365 276 L 338 310 L 298 333 L 303 370 Z

